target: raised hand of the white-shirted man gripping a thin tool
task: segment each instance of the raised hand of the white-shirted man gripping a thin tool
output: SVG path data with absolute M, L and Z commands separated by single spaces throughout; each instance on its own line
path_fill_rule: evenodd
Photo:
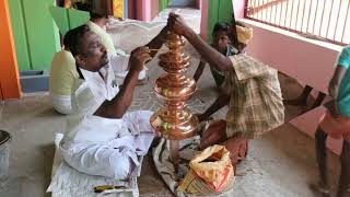
M 138 47 L 131 53 L 130 71 L 140 72 L 143 70 L 144 63 L 152 59 L 149 47 Z

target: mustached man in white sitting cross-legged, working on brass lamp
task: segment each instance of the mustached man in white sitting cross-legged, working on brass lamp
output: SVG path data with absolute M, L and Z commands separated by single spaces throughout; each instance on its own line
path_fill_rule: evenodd
M 72 90 L 73 113 L 60 144 L 63 160 L 79 172 L 117 179 L 136 176 L 140 157 L 148 152 L 154 137 L 152 112 L 127 113 L 138 76 L 152 59 L 149 47 L 131 53 L 130 71 L 119 90 L 106 48 L 88 25 L 71 30 L 67 36 L 75 59 L 79 79 Z M 160 48 L 164 32 L 148 45 Z

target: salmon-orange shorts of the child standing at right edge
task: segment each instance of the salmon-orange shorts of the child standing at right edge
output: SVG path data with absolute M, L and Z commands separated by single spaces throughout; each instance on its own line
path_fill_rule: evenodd
M 319 127 L 335 139 L 343 138 L 350 141 L 350 118 L 339 116 L 334 117 L 327 111 L 319 119 Z

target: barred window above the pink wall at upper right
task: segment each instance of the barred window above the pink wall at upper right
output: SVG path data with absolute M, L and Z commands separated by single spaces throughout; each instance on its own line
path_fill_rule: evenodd
M 247 19 L 308 36 L 350 43 L 350 0 L 246 0 Z

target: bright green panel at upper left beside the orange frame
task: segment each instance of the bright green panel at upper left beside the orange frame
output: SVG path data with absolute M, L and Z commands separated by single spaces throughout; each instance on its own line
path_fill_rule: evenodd
M 52 0 L 9 0 L 19 70 L 50 67 L 60 49 L 57 26 L 49 13 Z

